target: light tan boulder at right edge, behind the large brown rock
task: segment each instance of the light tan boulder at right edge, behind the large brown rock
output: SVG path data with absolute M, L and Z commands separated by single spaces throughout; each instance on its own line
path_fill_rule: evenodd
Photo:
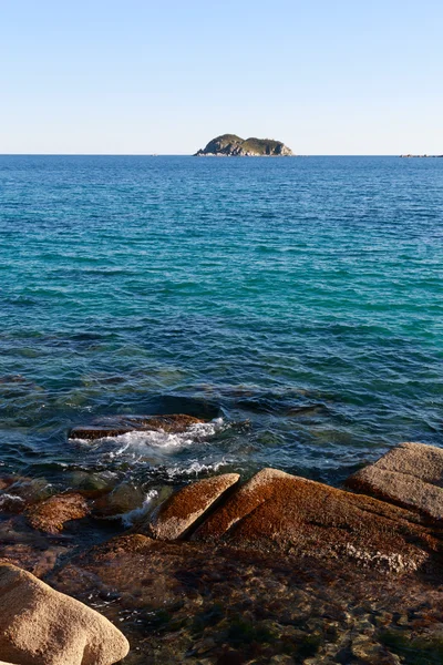
M 401 443 L 348 478 L 346 484 L 434 520 L 443 519 L 443 450 L 434 446 Z

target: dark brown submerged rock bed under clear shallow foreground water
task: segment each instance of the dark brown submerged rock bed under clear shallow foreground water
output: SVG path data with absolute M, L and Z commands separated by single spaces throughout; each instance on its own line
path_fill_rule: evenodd
M 223 543 L 122 535 L 71 557 L 50 580 L 119 622 L 136 647 L 127 665 L 268 665 L 280 655 L 306 665 L 399 665 L 385 651 L 387 631 L 424 641 L 441 627 L 440 573 L 385 575 L 349 561 Z M 430 663 L 441 662 L 441 644 L 424 652 Z

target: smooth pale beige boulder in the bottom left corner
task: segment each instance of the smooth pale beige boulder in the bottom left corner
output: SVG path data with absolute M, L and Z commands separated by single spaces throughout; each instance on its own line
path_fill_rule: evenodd
M 111 665 L 127 654 L 104 616 L 13 565 L 0 565 L 0 653 L 32 665 Z

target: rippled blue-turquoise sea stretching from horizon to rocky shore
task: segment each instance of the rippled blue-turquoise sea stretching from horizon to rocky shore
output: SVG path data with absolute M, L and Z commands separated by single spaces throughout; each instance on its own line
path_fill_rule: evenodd
M 443 443 L 443 160 L 0 156 L 0 472 L 332 483 Z M 112 413 L 185 434 L 96 442 Z

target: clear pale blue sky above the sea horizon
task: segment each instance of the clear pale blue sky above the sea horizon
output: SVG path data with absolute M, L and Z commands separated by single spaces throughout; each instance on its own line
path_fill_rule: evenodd
M 0 153 L 443 154 L 441 0 L 0 0 Z

